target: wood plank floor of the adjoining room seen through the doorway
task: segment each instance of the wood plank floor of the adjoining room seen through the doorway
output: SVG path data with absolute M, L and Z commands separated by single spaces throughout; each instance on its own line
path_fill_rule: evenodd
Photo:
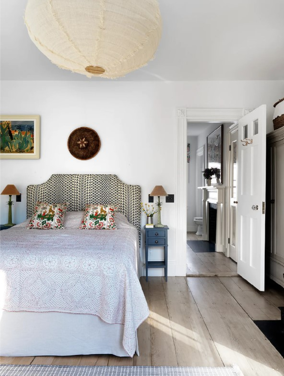
M 202 240 L 195 232 L 187 233 L 187 240 Z M 237 263 L 222 252 L 195 253 L 187 245 L 188 276 L 238 276 Z

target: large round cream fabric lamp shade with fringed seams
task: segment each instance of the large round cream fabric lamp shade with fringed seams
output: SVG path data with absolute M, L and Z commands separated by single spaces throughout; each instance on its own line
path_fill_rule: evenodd
M 146 65 L 162 29 L 156 0 L 28 0 L 25 23 L 59 68 L 107 78 Z

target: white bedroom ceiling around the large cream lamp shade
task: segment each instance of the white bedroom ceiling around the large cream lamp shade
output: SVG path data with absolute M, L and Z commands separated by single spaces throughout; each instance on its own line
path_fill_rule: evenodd
M 1 0 L 1 79 L 89 80 L 39 52 L 24 26 L 26 2 Z M 159 3 L 163 35 L 155 60 L 119 80 L 284 79 L 283 0 Z

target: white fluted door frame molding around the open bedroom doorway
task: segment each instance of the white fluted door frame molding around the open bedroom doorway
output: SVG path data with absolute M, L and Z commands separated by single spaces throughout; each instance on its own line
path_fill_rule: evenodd
M 247 108 L 176 108 L 176 276 L 186 275 L 187 122 L 203 123 L 208 121 L 211 123 L 219 123 L 223 121 L 235 123 L 251 111 L 251 109 Z

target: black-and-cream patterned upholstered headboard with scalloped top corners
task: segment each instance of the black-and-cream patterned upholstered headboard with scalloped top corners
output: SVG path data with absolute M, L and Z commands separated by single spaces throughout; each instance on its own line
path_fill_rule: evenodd
M 27 187 L 27 218 L 36 201 L 68 202 L 68 211 L 84 211 L 90 203 L 114 203 L 141 237 L 141 187 L 128 185 L 116 175 L 54 174 L 47 182 Z

